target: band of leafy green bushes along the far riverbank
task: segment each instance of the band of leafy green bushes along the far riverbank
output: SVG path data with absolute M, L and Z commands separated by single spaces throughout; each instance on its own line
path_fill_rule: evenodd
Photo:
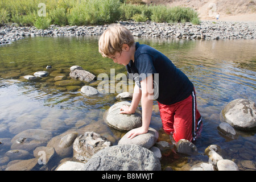
M 96 25 L 118 20 L 136 22 L 192 22 L 198 14 L 187 7 L 126 3 L 125 0 L 1 0 L 0 24 L 48 28 L 51 24 Z

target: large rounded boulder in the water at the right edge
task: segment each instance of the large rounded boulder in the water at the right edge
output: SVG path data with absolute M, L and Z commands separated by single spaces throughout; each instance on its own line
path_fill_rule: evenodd
M 253 101 L 238 98 L 229 102 L 220 113 L 220 119 L 241 130 L 256 129 L 256 104 Z

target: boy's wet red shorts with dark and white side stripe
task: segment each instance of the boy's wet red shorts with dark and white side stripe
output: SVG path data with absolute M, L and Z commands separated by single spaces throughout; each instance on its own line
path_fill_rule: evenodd
M 199 133 L 202 118 L 196 106 L 195 90 L 191 96 L 172 105 L 158 102 L 163 130 L 172 134 L 176 142 L 187 139 L 190 142 L 196 139 Z

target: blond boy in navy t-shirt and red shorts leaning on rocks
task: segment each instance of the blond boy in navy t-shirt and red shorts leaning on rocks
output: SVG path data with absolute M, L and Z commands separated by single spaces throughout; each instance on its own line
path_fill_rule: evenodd
M 158 76 L 158 101 L 163 130 L 176 142 L 195 140 L 201 115 L 196 109 L 193 84 L 175 65 L 156 49 L 134 42 L 133 35 L 123 26 L 110 26 L 100 37 L 99 52 L 114 63 L 126 66 L 135 80 L 131 105 L 122 106 L 120 113 L 132 114 L 142 105 L 142 126 L 129 131 L 127 138 L 147 133 L 152 114 L 152 86 Z M 131 74 L 133 73 L 133 74 Z

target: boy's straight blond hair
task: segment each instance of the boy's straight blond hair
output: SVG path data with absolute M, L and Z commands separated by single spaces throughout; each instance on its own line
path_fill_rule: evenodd
M 116 52 L 122 52 L 123 44 L 127 44 L 129 47 L 133 46 L 133 35 L 126 27 L 115 24 L 101 35 L 98 41 L 98 52 L 103 57 L 111 58 Z

